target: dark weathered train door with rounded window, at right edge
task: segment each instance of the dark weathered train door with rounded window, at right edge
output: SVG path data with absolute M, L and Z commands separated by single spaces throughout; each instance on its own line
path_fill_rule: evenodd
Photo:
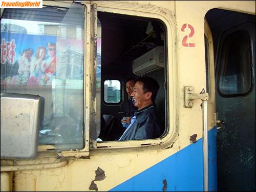
M 255 15 L 212 9 L 205 17 L 214 42 L 221 128 L 218 190 L 255 190 Z

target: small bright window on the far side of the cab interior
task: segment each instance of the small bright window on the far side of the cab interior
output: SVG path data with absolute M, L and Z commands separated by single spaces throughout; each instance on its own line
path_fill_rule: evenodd
M 121 100 L 121 83 L 119 80 L 104 81 L 104 101 L 106 103 L 118 103 Z

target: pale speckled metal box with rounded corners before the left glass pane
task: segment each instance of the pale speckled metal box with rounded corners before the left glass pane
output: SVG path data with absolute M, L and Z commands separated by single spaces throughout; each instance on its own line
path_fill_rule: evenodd
M 40 110 L 38 95 L 1 93 L 1 158 L 36 157 Z

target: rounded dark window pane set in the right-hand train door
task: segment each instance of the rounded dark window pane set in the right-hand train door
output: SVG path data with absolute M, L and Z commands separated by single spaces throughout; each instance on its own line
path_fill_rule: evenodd
M 251 86 L 250 37 L 237 31 L 226 37 L 221 54 L 219 91 L 223 95 L 247 93 Z

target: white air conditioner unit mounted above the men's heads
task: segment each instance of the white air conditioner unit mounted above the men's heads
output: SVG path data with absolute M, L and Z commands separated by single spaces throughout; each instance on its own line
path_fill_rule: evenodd
M 157 46 L 133 61 L 133 73 L 144 75 L 164 68 L 164 49 Z

